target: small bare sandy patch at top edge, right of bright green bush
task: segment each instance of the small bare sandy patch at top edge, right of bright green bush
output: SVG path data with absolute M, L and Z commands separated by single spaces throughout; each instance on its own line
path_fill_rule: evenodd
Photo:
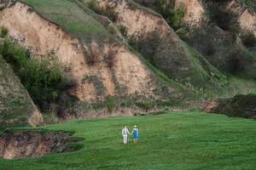
M 184 6 L 184 21 L 190 26 L 200 26 L 201 21 L 205 20 L 205 10 L 199 0 L 176 0 L 175 6 Z

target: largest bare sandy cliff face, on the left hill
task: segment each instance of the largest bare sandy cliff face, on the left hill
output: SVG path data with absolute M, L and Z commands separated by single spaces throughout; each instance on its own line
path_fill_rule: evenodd
M 45 20 L 23 3 L 3 9 L 0 19 L 0 26 L 7 27 L 9 35 L 31 49 L 33 54 L 54 55 L 61 61 L 77 82 L 70 92 L 79 99 L 91 100 L 117 94 L 117 86 L 125 87 L 123 94 L 152 95 L 148 89 L 154 89 L 154 82 L 148 69 L 124 46 L 105 43 L 100 47 L 97 42 L 80 43 L 61 26 Z M 91 56 L 96 58 L 93 65 L 88 64 Z M 111 64 L 106 62 L 106 57 L 111 58 Z M 91 81 L 88 77 L 97 80 Z M 96 82 L 102 83 L 102 93 L 96 89 Z

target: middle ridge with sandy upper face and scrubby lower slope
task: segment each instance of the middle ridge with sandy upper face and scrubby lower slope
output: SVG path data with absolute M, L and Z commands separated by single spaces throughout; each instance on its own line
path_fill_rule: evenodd
M 121 26 L 131 47 L 166 76 L 196 88 L 209 88 L 212 82 L 218 82 L 218 78 L 212 77 L 212 74 L 221 77 L 212 65 L 177 36 L 160 14 L 126 0 L 99 0 L 96 6 L 102 11 L 112 10 L 115 15 L 113 22 Z

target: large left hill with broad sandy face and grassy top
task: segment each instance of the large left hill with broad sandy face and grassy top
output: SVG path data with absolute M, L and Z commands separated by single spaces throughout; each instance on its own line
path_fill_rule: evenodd
M 8 29 L 15 43 L 34 59 L 57 60 L 70 77 L 71 86 L 57 103 L 58 115 L 80 116 L 92 108 L 113 110 L 112 105 L 144 101 L 176 105 L 183 92 L 191 94 L 111 34 L 107 18 L 81 4 L 23 0 L 0 12 L 0 26 Z

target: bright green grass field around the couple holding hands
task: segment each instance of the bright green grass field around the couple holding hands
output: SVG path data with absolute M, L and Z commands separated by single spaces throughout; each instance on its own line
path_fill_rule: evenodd
M 140 130 L 138 144 L 122 144 L 123 124 Z M 63 169 L 256 169 L 256 122 L 169 112 L 159 116 L 119 116 L 45 126 L 75 131 L 82 150 L 20 160 L 0 159 L 2 170 Z

